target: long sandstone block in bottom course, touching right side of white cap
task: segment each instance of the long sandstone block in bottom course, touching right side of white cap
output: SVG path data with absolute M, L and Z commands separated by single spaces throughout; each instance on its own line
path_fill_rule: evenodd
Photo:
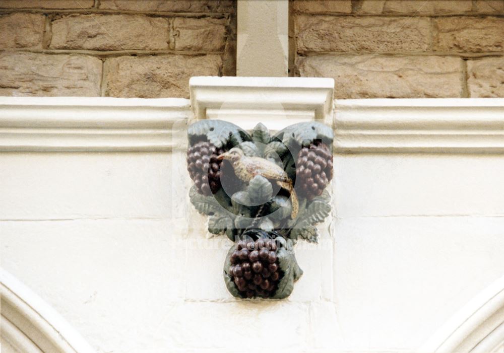
M 447 56 L 317 55 L 298 58 L 302 77 L 332 77 L 335 98 L 460 97 L 462 60 Z

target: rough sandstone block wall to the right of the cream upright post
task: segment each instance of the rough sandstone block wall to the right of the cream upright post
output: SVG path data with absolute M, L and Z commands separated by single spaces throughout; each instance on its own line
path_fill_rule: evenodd
M 504 97 L 502 0 L 293 0 L 291 73 L 336 98 Z

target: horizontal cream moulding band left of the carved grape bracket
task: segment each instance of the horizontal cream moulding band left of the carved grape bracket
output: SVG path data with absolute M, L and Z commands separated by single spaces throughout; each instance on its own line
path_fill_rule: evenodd
M 179 98 L 0 97 L 0 151 L 171 151 L 190 115 Z

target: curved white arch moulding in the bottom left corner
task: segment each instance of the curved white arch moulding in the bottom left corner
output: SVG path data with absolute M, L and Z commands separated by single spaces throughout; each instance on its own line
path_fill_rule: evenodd
M 2 342 L 26 353 L 95 353 L 46 302 L 0 269 Z

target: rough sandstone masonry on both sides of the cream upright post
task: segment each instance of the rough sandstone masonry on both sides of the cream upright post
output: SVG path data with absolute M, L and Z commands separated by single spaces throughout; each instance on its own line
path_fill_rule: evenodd
M 0 94 L 188 97 L 236 74 L 232 0 L 1 0 Z M 504 97 L 502 0 L 293 0 L 290 75 L 336 98 Z

